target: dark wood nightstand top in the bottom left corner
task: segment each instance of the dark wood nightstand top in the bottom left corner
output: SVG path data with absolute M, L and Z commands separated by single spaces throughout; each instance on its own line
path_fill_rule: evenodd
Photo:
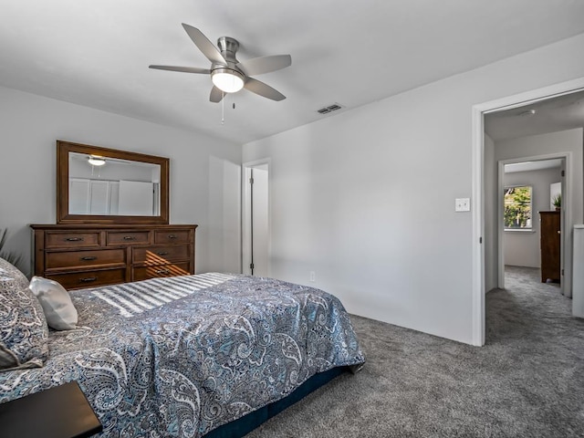
M 87 438 L 102 429 L 77 381 L 0 404 L 3 438 Z

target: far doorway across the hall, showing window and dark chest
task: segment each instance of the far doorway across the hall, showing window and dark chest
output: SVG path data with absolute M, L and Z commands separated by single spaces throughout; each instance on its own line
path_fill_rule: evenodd
M 502 144 L 508 146 L 509 141 Z M 564 268 L 567 259 L 565 224 L 561 203 L 565 187 L 567 157 L 537 159 L 517 162 L 506 160 L 498 163 L 499 177 L 499 221 L 498 234 L 502 245 L 498 254 L 498 285 L 506 288 L 506 274 L 511 267 L 529 268 L 537 271 L 533 278 L 542 283 L 567 286 L 564 295 L 570 292 L 563 280 L 569 279 L 571 266 Z M 569 199 L 569 196 L 567 197 Z M 569 256 L 568 256 L 569 259 Z

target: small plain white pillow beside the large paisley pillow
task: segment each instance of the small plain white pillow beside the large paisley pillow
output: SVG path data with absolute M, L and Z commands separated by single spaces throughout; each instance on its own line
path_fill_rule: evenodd
M 56 330 L 76 328 L 77 308 L 73 306 L 65 287 L 42 276 L 33 276 L 29 287 L 40 301 L 48 327 Z

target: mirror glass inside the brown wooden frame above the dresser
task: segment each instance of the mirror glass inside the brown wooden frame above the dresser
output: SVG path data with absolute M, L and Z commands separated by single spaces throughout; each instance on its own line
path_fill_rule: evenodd
M 68 214 L 161 214 L 160 164 L 69 151 L 68 165 Z

